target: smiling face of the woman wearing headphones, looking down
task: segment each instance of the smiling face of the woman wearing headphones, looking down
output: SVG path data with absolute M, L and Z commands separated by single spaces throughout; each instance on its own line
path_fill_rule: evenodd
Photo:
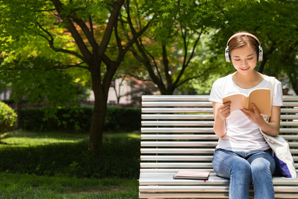
M 242 75 L 254 71 L 257 64 L 257 53 L 251 45 L 244 45 L 230 52 L 231 60 L 235 69 Z

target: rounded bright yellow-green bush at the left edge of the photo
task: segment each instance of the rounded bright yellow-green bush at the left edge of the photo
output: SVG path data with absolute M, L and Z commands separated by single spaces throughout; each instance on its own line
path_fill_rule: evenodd
M 14 128 L 16 113 L 7 104 L 0 101 L 0 132 L 5 132 Z

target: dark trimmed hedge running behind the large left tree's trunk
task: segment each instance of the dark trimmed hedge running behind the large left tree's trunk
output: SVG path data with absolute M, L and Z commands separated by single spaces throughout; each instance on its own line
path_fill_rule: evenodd
M 62 124 L 50 119 L 43 121 L 44 112 L 39 107 L 23 108 L 20 111 L 20 128 L 29 131 L 67 131 L 89 132 L 92 119 L 93 106 L 82 106 L 78 114 L 68 108 L 61 108 L 57 116 Z M 75 129 L 75 123 L 79 124 L 79 130 Z M 141 108 L 108 106 L 104 123 L 104 131 L 129 132 L 139 130 L 141 127 Z

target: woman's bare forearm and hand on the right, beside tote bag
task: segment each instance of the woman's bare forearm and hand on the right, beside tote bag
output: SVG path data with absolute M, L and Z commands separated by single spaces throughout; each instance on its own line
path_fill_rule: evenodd
M 281 106 L 272 106 L 271 117 L 267 122 L 252 103 L 254 111 L 241 109 L 241 111 L 255 124 L 257 124 L 266 134 L 276 136 L 280 130 Z

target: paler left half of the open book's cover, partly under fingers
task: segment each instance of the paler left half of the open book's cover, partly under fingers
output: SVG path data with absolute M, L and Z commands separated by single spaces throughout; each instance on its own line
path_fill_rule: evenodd
M 234 94 L 223 98 L 223 103 L 231 101 L 231 111 L 248 108 L 248 98 L 242 94 Z

